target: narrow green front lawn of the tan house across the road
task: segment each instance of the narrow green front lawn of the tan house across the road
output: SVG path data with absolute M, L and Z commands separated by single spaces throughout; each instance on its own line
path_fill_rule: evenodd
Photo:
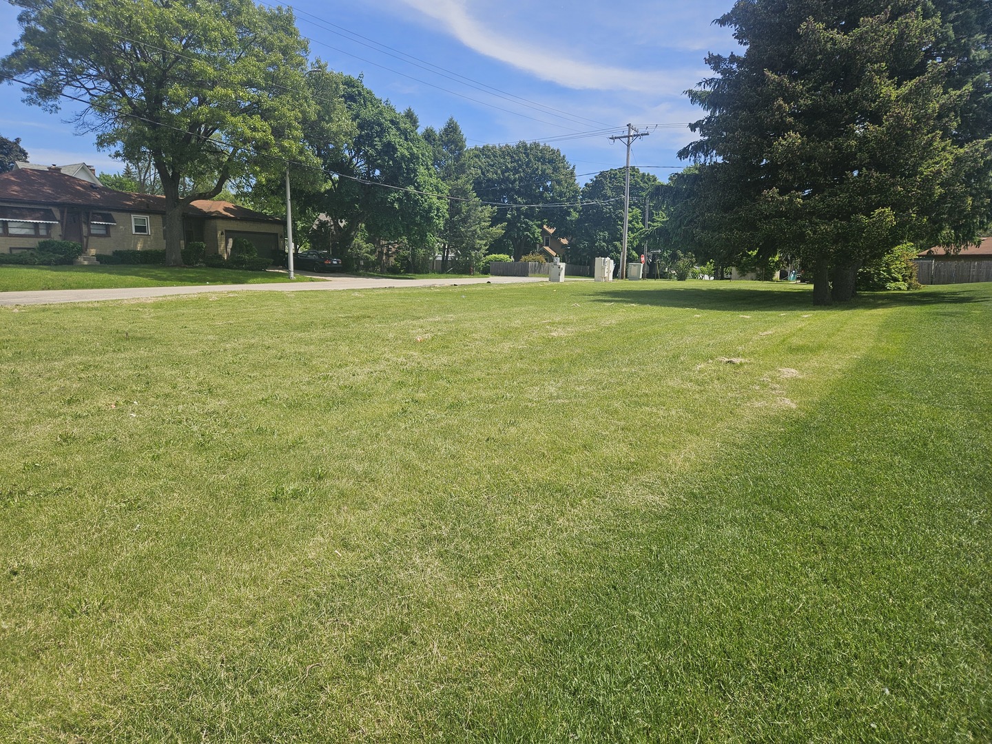
M 178 287 L 201 284 L 289 282 L 279 272 L 189 269 L 165 266 L 0 266 L 0 292 L 103 290 L 127 287 Z M 308 277 L 296 281 L 313 282 Z

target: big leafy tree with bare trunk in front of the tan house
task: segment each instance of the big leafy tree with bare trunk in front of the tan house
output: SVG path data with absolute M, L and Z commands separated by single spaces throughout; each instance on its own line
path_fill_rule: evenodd
M 232 178 L 300 154 L 307 45 L 293 15 L 252 0 L 14 0 L 23 10 L 0 79 L 76 117 L 126 161 L 149 158 L 166 197 L 166 259 L 182 263 L 183 211 Z M 188 185 L 191 189 L 184 189 Z

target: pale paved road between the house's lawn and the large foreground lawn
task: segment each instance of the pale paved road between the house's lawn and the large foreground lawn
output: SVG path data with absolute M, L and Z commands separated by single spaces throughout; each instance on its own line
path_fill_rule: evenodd
M 312 276 L 308 274 L 307 276 Z M 0 306 L 91 303 L 98 300 L 135 300 L 173 295 L 202 295 L 218 292 L 327 292 L 333 290 L 380 290 L 387 287 L 459 287 L 469 284 L 523 284 L 547 282 L 547 277 L 469 277 L 462 279 L 369 279 L 335 275 L 320 276 L 322 282 L 300 284 L 211 284 L 186 287 L 134 287 L 115 290 L 49 290 L 45 292 L 0 292 Z

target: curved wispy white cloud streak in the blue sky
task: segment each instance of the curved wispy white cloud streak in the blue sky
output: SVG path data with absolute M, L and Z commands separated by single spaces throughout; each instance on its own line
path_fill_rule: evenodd
M 480 55 L 506 62 L 559 85 L 584 90 L 631 90 L 679 95 L 696 75 L 695 70 L 663 72 L 626 69 L 567 57 L 560 49 L 548 51 L 538 44 L 500 34 L 474 18 L 465 0 L 404 0 L 409 6 L 439 21 L 459 42 Z M 688 81 L 688 82 L 687 82 Z

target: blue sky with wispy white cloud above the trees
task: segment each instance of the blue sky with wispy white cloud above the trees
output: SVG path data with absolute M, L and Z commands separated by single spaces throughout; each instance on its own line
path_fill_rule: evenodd
M 620 133 L 628 122 L 652 125 L 650 136 L 635 143 L 632 165 L 683 165 L 676 152 L 692 134 L 671 125 L 701 116 L 682 91 L 707 75 L 706 53 L 736 48 L 730 33 L 711 23 L 731 4 L 299 0 L 293 7 L 301 34 L 310 39 L 311 58 L 364 73 L 378 96 L 400 110 L 412 107 L 422 127 L 440 127 L 454 116 L 470 146 L 565 137 L 551 144 L 584 183 L 596 172 L 622 167 L 625 156 L 609 133 L 587 133 Z M 16 8 L 0 4 L 3 54 L 20 35 L 16 18 Z M 487 86 L 504 92 L 493 94 Z M 91 135 L 73 133 L 65 123 L 69 107 L 47 114 L 21 103 L 21 95 L 19 87 L 3 86 L 0 135 L 20 137 L 33 162 L 120 169 L 109 153 L 96 150 Z M 651 172 L 665 180 L 673 169 Z

